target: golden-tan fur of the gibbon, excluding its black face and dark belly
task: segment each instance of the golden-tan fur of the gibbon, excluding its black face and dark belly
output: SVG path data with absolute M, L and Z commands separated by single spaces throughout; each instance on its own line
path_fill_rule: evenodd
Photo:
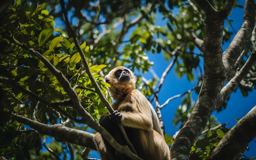
M 164 141 L 164 136 L 159 125 L 157 115 L 146 97 L 135 89 L 136 77 L 130 72 L 130 81 L 122 83 L 115 77 L 118 69 L 114 68 L 106 76 L 111 87 L 110 95 L 116 101 L 112 107 L 123 116 L 121 124 L 135 132 L 128 135 L 138 156 L 145 160 L 170 160 L 169 148 Z M 127 69 L 127 68 L 126 68 Z M 128 69 L 127 69 L 128 70 Z M 136 135 L 135 135 L 136 134 Z M 136 138 L 134 138 L 136 139 Z M 94 138 L 102 160 L 110 160 L 106 147 L 100 134 Z

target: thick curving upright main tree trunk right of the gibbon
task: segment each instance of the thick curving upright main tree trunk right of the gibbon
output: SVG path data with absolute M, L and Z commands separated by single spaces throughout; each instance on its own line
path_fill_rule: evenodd
M 195 0 L 195 2 L 206 15 L 206 34 L 202 46 L 204 50 L 204 76 L 202 88 L 191 116 L 171 146 L 172 160 L 189 160 L 191 146 L 206 126 L 225 81 L 225 70 L 222 64 L 222 32 L 225 17 L 216 11 L 209 1 Z

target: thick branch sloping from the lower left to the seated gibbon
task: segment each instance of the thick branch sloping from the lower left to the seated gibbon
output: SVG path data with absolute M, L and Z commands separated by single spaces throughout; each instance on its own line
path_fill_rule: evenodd
M 52 136 L 58 140 L 74 143 L 76 145 L 89 147 L 97 151 L 93 141 L 94 134 L 89 132 L 68 128 L 61 124 L 46 125 L 16 114 L 13 114 L 13 118 L 20 123 L 36 129 L 40 134 Z

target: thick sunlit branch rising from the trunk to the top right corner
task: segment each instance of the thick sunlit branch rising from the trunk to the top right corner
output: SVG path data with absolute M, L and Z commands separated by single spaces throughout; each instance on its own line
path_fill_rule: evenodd
M 229 74 L 233 69 L 236 59 L 238 59 L 240 53 L 242 53 L 242 51 L 249 43 L 255 22 L 254 17 L 254 0 L 246 0 L 243 24 L 222 56 L 227 78 L 229 77 Z

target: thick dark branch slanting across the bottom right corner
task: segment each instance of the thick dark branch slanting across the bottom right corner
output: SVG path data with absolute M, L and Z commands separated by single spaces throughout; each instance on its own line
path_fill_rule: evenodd
M 256 105 L 220 140 L 207 160 L 236 160 L 256 136 Z

